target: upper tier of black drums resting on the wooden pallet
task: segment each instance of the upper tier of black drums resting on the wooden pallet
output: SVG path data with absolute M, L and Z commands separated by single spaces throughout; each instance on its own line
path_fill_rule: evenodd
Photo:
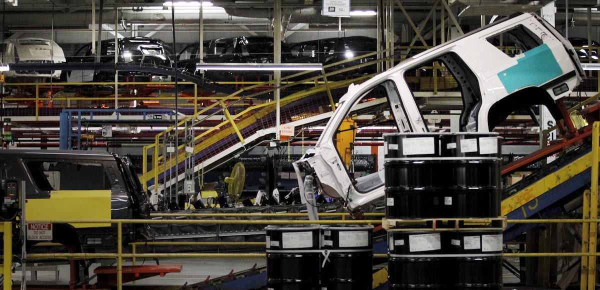
M 385 159 L 388 219 L 500 216 L 497 134 L 397 133 L 386 134 L 385 140 L 388 147 L 398 147 L 392 147 L 393 154 L 388 148 Z M 412 154 L 416 149 L 406 151 L 406 145 L 413 143 L 429 144 L 430 150 L 421 152 L 437 151 L 430 156 Z

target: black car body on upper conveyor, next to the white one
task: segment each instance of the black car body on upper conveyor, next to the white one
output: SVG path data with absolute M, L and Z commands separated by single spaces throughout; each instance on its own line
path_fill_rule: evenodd
M 172 67 L 170 48 L 161 40 L 149 37 L 119 38 L 116 61 L 119 63 L 132 63 L 152 65 L 155 67 Z M 71 63 L 94 63 L 97 56 L 92 53 L 92 44 L 82 46 L 74 56 L 68 59 Z M 103 40 L 100 46 L 100 63 L 115 62 L 115 40 Z M 68 82 L 112 82 L 115 79 L 114 71 L 73 70 L 67 71 Z M 135 77 L 134 79 L 132 77 Z M 164 79 L 164 76 L 158 76 Z M 152 79 L 148 73 L 139 71 L 119 71 L 121 81 L 147 81 Z

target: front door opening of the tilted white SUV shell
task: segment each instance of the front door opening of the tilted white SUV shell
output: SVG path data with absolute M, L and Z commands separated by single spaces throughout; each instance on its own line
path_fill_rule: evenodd
M 392 81 L 386 80 L 356 101 L 344 121 L 338 126 L 334 136 L 333 141 L 344 167 L 349 177 L 356 181 L 354 184 L 356 190 L 368 192 L 381 186 L 383 181 L 378 172 L 364 176 L 354 173 L 356 162 L 354 156 L 370 154 L 370 152 L 364 152 L 366 147 L 360 145 L 357 147 L 355 143 L 373 142 L 373 140 L 382 142 L 384 133 L 397 133 L 398 131 L 411 131 L 411 128 L 396 86 Z

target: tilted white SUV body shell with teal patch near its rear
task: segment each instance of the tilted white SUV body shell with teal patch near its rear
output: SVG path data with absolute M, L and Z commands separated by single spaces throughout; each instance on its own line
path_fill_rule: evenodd
M 543 50 L 545 50 L 542 53 L 547 54 L 547 57 L 556 59 L 556 64 L 539 64 L 541 67 L 532 70 L 532 67 L 519 64 L 520 61 L 525 60 L 527 53 L 511 57 L 486 40 L 488 37 L 508 31 L 518 25 L 523 25 L 541 38 L 543 41 L 542 46 L 544 46 Z M 424 122 L 421 112 L 419 112 L 418 104 L 415 103 L 412 91 L 407 86 L 406 80 L 404 80 L 404 73 L 428 62 L 431 63 L 433 59 L 439 58 L 449 52 L 455 53 L 472 70 L 481 90 L 478 113 L 476 118 L 470 120 L 469 125 L 466 126 L 466 131 L 488 131 L 488 112 L 490 108 L 493 104 L 498 103 L 514 92 L 531 86 L 538 86 L 539 88 L 544 88 L 553 100 L 556 101 L 569 95 L 572 89 L 579 85 L 584 76 L 577 54 L 575 54 L 571 44 L 552 26 L 534 14 L 514 16 L 499 23 L 494 23 L 491 26 L 470 32 L 456 40 L 436 46 L 433 49 L 426 50 L 412 58 L 406 59 L 394 68 L 380 73 L 361 85 L 350 86 L 348 92 L 341 97 L 340 106 L 337 107 L 334 115 L 329 119 L 316 146 L 308 150 L 301 160 L 294 163 L 301 195 L 304 198 L 308 196 L 310 199 L 310 194 L 307 192 L 311 192 L 311 189 L 307 189 L 307 192 L 305 192 L 305 187 L 308 184 L 304 184 L 305 180 L 301 177 L 301 172 L 312 171 L 312 175 L 315 178 L 314 182 L 320 190 L 334 198 L 343 198 L 347 208 L 350 210 L 383 198 L 385 196 L 383 168 L 375 173 L 379 175 L 380 186 L 370 189 L 368 192 L 359 192 L 356 189 L 353 182 L 356 183 L 361 178 L 354 180 L 350 177 L 341 160 L 340 154 L 338 154 L 334 142 L 337 128 L 348 113 L 355 109 L 355 104 L 361 100 L 362 95 L 382 82 L 391 80 L 398 90 L 401 102 L 404 105 L 407 121 L 410 123 L 412 131 L 428 131 L 426 122 Z M 544 73 L 545 65 L 553 67 L 557 75 L 556 73 L 554 75 Z M 560 73 L 558 68 L 560 68 Z M 506 76 L 505 72 L 507 70 L 510 73 L 520 73 L 520 76 L 513 77 L 512 80 L 501 79 L 501 77 Z M 555 95 L 553 88 L 556 88 L 556 85 L 564 86 L 565 83 L 568 89 Z M 550 86 L 548 87 L 548 85 Z M 390 100 L 389 102 L 392 110 L 394 110 L 394 100 Z M 368 182 L 372 183 L 373 178 Z

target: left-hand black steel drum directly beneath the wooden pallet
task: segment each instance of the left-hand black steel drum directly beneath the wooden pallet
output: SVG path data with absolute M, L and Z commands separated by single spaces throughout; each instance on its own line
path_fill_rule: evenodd
M 445 240 L 444 232 L 388 232 L 389 289 L 442 289 Z

